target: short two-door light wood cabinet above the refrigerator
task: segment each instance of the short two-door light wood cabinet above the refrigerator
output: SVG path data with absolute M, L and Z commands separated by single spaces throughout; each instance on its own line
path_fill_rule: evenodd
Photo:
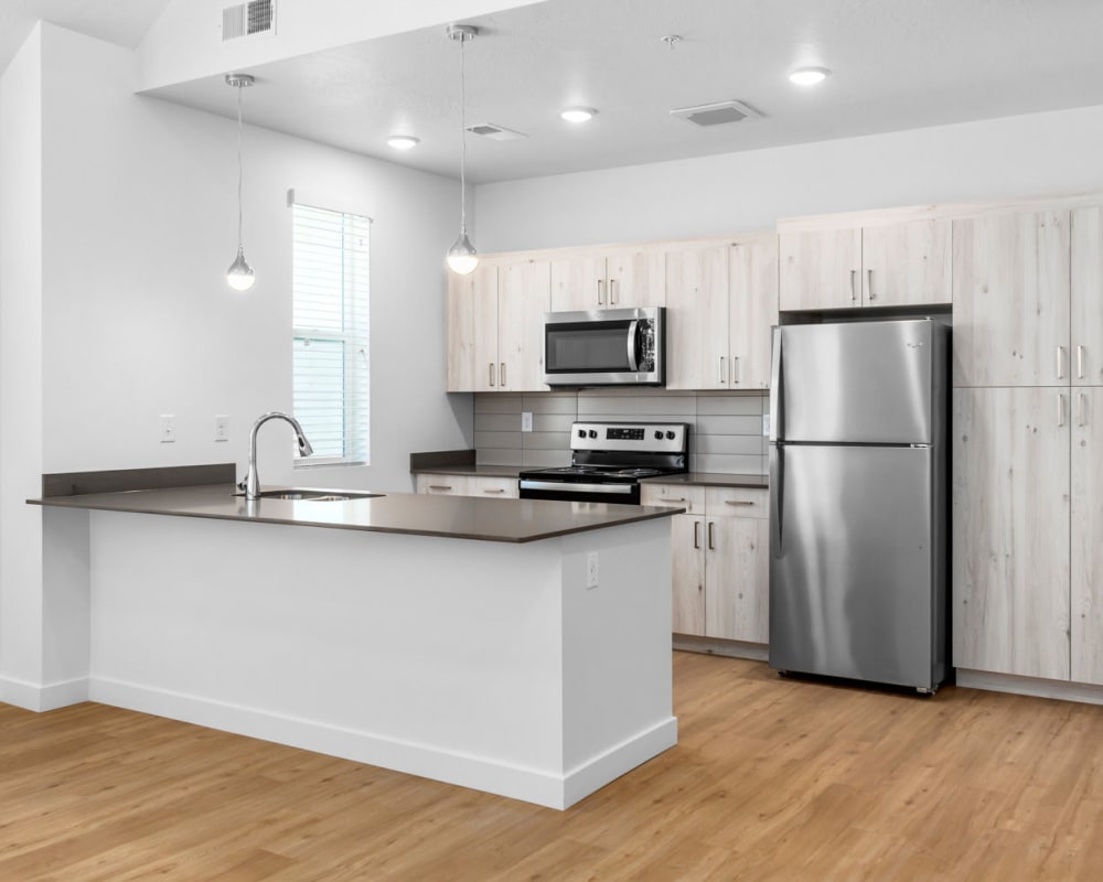
M 950 220 L 783 230 L 781 309 L 843 310 L 951 301 Z

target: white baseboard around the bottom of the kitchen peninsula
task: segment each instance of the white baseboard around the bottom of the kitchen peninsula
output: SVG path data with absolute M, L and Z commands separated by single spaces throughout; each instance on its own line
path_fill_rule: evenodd
M 677 720 L 671 717 L 568 774 L 560 775 L 431 744 L 150 689 L 119 680 L 93 678 L 88 691 L 93 701 L 104 704 L 340 756 L 558 809 L 567 808 L 677 742 Z

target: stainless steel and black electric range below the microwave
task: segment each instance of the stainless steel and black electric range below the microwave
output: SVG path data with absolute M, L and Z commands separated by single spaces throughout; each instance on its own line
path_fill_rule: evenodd
M 640 504 L 640 478 L 688 471 L 684 422 L 575 422 L 570 465 L 521 473 L 521 498 Z

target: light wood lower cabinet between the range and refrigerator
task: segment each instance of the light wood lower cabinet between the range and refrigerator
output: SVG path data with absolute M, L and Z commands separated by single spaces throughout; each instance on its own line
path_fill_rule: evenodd
M 671 519 L 674 632 L 767 643 L 767 491 L 645 484 L 642 498 L 700 513 Z

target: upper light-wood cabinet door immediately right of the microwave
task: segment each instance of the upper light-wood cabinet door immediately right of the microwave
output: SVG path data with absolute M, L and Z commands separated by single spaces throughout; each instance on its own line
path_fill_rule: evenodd
M 728 246 L 666 252 L 666 386 L 727 389 Z

